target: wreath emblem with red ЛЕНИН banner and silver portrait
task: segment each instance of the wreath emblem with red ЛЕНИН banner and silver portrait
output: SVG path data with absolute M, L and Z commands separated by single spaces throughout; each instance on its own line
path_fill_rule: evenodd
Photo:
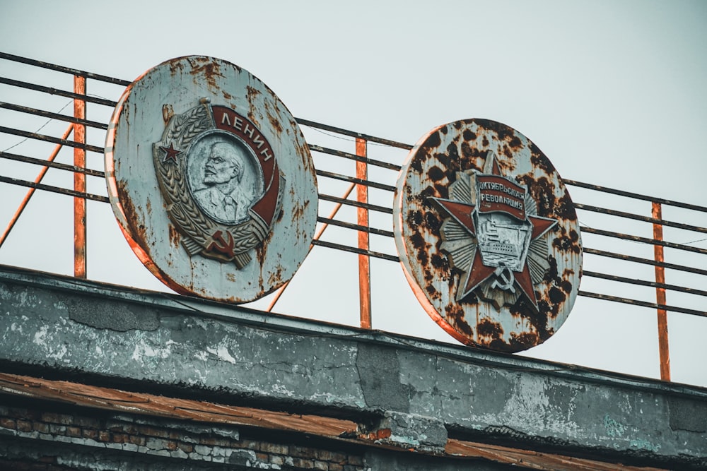
M 283 177 L 255 124 L 201 101 L 171 117 L 153 145 L 157 179 L 189 255 L 243 268 L 269 232 Z

